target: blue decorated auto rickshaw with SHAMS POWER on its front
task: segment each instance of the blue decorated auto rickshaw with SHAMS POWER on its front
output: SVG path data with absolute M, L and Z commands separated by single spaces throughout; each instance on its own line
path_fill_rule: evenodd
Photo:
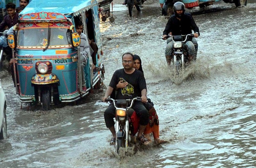
M 90 15 L 86 13 L 89 13 Z M 90 18 L 88 18 L 88 16 Z M 98 46 L 94 64 L 102 71 L 93 72 L 92 59 L 84 66 L 86 92 L 82 92 L 80 36 L 76 20 L 83 23 L 84 33 Z M 86 20 L 91 20 L 87 22 Z M 14 35 L 8 36 L 13 51 L 16 93 L 20 102 L 51 104 L 74 102 L 91 89 L 103 86 L 104 65 L 97 1 L 32 0 L 20 12 Z M 89 58 L 90 55 L 88 55 Z

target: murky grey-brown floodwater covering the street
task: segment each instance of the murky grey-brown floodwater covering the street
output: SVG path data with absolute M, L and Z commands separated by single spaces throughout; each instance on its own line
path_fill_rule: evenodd
M 148 97 L 155 104 L 163 145 L 135 146 L 117 155 L 99 102 L 105 88 L 76 104 L 43 112 L 21 104 L 11 76 L 2 73 L 8 138 L 0 167 L 256 167 L 256 1 L 219 2 L 188 10 L 199 27 L 197 61 L 180 77 L 166 66 L 162 36 L 167 19 L 158 2 L 141 12 L 115 1 L 115 23 L 101 25 L 107 86 L 121 55 L 142 59 Z

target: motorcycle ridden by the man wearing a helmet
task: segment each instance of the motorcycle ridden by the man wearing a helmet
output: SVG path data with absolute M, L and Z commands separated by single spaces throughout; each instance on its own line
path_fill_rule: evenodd
M 172 60 L 171 67 L 175 69 L 176 74 L 178 75 L 180 71 L 183 71 L 186 65 L 188 65 L 188 54 L 184 52 L 184 44 L 188 41 L 189 37 L 194 37 L 193 34 L 188 35 L 178 35 L 178 36 L 167 36 L 172 37 L 173 41 L 173 52 L 172 52 Z M 185 37 L 185 39 L 184 39 Z M 162 38 L 163 39 L 163 38 Z M 183 40 L 184 39 L 184 40 Z M 196 60 L 196 57 L 193 58 Z

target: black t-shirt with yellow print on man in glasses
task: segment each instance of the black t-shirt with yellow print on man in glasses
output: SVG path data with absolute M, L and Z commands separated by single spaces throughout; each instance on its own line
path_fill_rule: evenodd
M 115 88 L 120 80 L 128 82 L 128 85 L 124 88 L 119 88 L 116 92 L 116 99 L 133 99 L 135 97 L 141 97 L 141 91 L 147 89 L 146 80 L 143 74 L 135 69 L 132 74 L 126 74 L 123 69 L 115 71 L 109 86 Z

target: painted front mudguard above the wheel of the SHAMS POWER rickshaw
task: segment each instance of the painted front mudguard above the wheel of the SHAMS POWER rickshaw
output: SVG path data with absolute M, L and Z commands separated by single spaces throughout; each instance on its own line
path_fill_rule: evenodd
M 55 74 L 34 74 L 31 79 L 32 84 L 53 84 L 59 82 Z

